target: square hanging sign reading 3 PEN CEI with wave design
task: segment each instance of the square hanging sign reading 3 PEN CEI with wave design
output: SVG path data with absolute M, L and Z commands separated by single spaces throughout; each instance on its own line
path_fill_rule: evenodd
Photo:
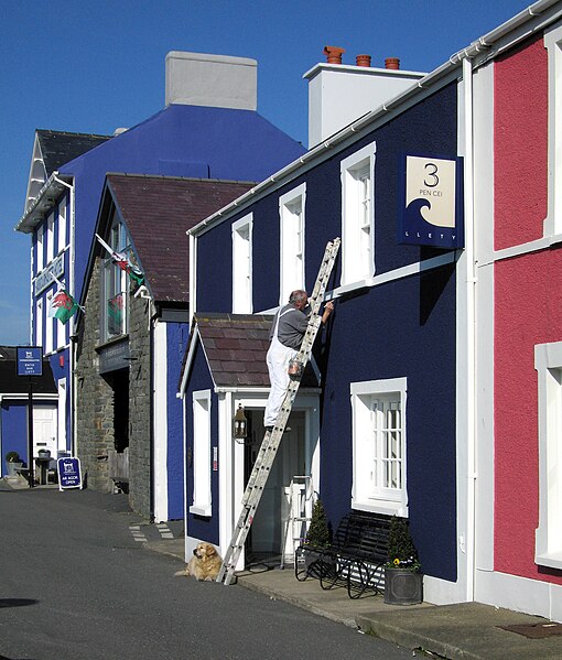
M 461 159 L 404 156 L 398 241 L 464 246 Z

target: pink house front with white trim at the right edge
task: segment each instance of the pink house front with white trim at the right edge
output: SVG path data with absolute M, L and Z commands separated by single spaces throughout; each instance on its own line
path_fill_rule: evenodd
M 473 76 L 474 599 L 561 621 L 562 3 L 529 9 Z

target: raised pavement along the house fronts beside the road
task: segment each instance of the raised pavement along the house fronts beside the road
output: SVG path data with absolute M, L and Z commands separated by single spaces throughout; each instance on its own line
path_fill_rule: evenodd
M 24 479 L 0 479 L 0 490 L 28 487 Z M 156 527 L 149 522 L 143 524 L 147 532 L 143 547 L 184 561 L 181 521 L 169 524 L 175 538 L 158 538 Z M 151 528 L 154 533 L 149 533 Z M 450 660 L 562 660 L 562 626 L 509 609 L 479 603 L 387 605 L 381 595 L 352 599 L 344 588 L 323 591 L 313 578 L 299 582 L 292 566 L 280 570 L 278 564 L 256 564 L 237 573 L 237 585 L 411 649 L 413 656 L 425 653 Z M 504 626 L 521 626 L 520 631 L 526 635 L 505 630 Z M 527 637 L 545 631 L 558 634 Z

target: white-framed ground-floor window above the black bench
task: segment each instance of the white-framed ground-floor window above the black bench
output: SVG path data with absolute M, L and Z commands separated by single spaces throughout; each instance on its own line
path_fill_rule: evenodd
M 352 383 L 355 509 L 407 516 L 406 378 Z

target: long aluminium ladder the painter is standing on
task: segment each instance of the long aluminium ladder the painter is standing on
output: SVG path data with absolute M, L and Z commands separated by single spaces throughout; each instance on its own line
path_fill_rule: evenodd
M 324 300 L 324 293 L 326 291 L 329 275 L 332 274 L 332 269 L 334 268 L 337 251 L 339 250 L 339 244 L 341 239 L 335 238 L 326 246 L 326 250 L 324 252 L 316 278 L 316 283 L 314 284 L 312 295 L 309 299 L 311 306 L 309 325 L 306 327 L 306 332 L 304 333 L 301 348 L 295 358 L 296 361 L 302 365 L 302 369 L 296 376 L 291 377 L 291 380 L 289 381 L 287 394 L 275 420 L 275 424 L 273 425 L 273 430 L 271 432 L 266 431 L 258 456 L 256 458 L 256 463 L 253 464 L 253 468 L 250 474 L 250 478 L 248 479 L 248 485 L 246 486 L 246 491 L 241 502 L 240 517 L 236 523 L 233 538 L 216 580 L 217 582 L 223 582 L 224 580 L 226 585 L 230 584 L 233 581 L 236 564 L 240 558 L 246 538 L 250 531 L 251 523 L 253 522 L 253 516 L 258 505 L 260 504 L 261 496 L 263 495 L 263 489 L 266 487 L 271 466 L 273 465 L 277 451 L 281 444 L 281 439 L 283 436 L 289 415 L 291 414 L 291 410 L 299 391 L 299 386 L 301 385 L 304 367 L 311 358 L 314 339 L 316 338 L 321 324 L 318 311 Z

